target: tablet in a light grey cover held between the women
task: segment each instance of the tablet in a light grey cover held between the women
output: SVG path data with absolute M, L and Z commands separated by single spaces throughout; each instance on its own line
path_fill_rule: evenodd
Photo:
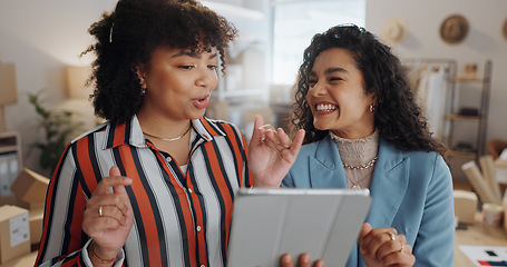
M 227 266 L 277 267 L 285 253 L 344 266 L 370 205 L 368 189 L 241 188 Z

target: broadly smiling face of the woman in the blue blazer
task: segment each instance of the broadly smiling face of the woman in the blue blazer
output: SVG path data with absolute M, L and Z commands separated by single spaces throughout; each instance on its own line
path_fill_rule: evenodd
M 328 49 L 316 57 L 309 77 L 306 101 L 313 126 L 335 135 L 355 139 L 374 130 L 374 93 L 365 95 L 364 78 L 352 55 L 341 48 Z

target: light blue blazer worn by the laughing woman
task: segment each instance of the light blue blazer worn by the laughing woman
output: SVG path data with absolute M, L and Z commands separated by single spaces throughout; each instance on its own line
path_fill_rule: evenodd
M 340 154 L 330 136 L 301 148 L 282 186 L 347 188 Z M 400 151 L 381 138 L 370 195 L 373 202 L 367 221 L 404 235 L 416 256 L 415 266 L 454 265 L 452 178 L 440 155 Z M 357 245 L 347 266 L 365 266 Z

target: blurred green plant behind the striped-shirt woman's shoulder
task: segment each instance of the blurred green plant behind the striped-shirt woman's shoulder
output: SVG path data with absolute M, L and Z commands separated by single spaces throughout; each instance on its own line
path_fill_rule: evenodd
M 41 117 L 40 126 L 45 134 L 43 141 L 35 142 L 32 147 L 41 150 L 40 166 L 52 174 L 67 144 L 75 134 L 82 130 L 82 122 L 72 120 L 76 112 L 45 108 L 41 95 L 42 90 L 28 93 L 30 103 L 36 108 L 37 115 Z

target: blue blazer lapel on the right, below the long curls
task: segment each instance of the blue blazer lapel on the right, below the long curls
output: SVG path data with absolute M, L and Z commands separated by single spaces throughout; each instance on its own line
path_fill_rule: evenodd
M 373 170 L 373 198 L 367 221 L 373 228 L 390 227 L 404 199 L 409 184 L 409 159 L 391 144 L 380 140 L 379 161 Z

